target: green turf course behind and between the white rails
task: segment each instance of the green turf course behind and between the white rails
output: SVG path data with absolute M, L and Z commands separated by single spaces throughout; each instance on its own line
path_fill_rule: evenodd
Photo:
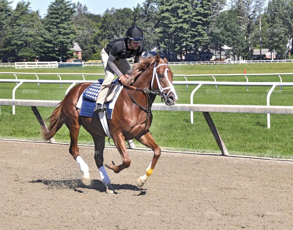
M 170 66 L 174 74 L 232 74 L 243 73 L 290 73 L 293 63 L 262 63 L 239 65 L 183 65 Z M 14 69 L 0 67 L 0 72 L 30 73 L 103 73 L 99 67 L 68 67 L 54 69 Z M 17 76 L 18 79 L 36 79 L 34 75 Z M 62 77 L 62 76 L 61 76 Z M 12 74 L 0 74 L 0 78 L 15 79 Z M 39 79 L 58 80 L 57 76 L 39 75 Z M 63 76 L 62 79 L 79 79 L 81 76 Z M 95 76 L 85 76 L 86 80 L 96 80 Z M 188 80 L 213 81 L 211 77 L 187 77 Z M 277 76 L 249 76 L 249 81 L 280 81 Z M 283 76 L 283 82 L 292 82 L 293 76 Z M 173 80 L 184 80 L 174 77 Z M 246 81 L 244 77 L 217 77 L 217 81 Z M 0 98 L 11 99 L 15 83 L 0 83 Z M 69 84 L 22 84 L 16 90 L 16 99 L 62 100 Z M 195 86 L 175 86 L 179 96 L 178 103 L 190 103 L 190 94 Z M 194 95 L 198 104 L 238 104 L 266 105 L 266 96 L 270 87 L 241 86 L 202 86 Z M 271 95 L 271 105 L 293 106 L 293 87 L 276 87 Z M 161 102 L 157 97 L 156 103 Z M 49 117 L 54 108 L 38 107 L 43 118 Z M 194 124 L 190 124 L 190 112 L 153 111 L 154 120 L 150 128 L 154 139 L 161 148 L 219 152 L 219 148 L 201 113 L 194 113 Z M 211 113 L 219 133 L 230 154 L 293 158 L 292 115 L 271 114 L 271 128 L 266 128 L 266 114 L 248 113 Z M 41 140 L 39 124 L 30 107 L 1 106 L 0 138 Z M 57 142 L 69 142 L 69 131 L 64 125 L 55 135 Z M 79 143 L 93 144 L 91 136 L 81 128 Z M 141 146 L 135 142 L 136 146 Z

